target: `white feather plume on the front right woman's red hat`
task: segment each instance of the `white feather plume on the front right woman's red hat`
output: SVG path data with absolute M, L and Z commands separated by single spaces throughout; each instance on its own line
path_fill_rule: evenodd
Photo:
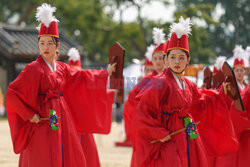
M 182 37 L 182 35 L 191 35 L 191 25 L 192 22 L 190 20 L 190 18 L 184 19 L 182 16 L 179 19 L 178 23 L 173 23 L 170 26 L 170 35 L 169 37 L 171 37 L 172 33 L 176 33 L 177 38 L 180 39 Z

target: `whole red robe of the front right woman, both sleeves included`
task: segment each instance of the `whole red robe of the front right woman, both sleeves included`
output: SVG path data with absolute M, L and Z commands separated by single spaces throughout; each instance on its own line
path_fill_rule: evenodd
M 182 90 L 169 69 L 157 78 L 163 80 L 163 87 L 146 90 L 136 111 L 134 166 L 188 167 L 185 132 L 165 143 L 150 143 L 183 128 L 183 118 L 187 116 L 201 122 L 197 127 L 200 136 L 189 140 L 191 167 L 208 166 L 208 154 L 222 155 L 237 150 L 223 92 L 199 90 L 184 77 Z

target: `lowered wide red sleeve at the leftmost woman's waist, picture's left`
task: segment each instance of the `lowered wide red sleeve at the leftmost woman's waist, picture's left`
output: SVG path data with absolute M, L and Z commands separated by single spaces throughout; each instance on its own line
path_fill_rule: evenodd
M 38 89 L 42 73 L 38 69 L 34 64 L 27 65 L 7 89 L 7 116 L 15 153 L 26 148 L 36 126 L 29 119 L 39 109 Z

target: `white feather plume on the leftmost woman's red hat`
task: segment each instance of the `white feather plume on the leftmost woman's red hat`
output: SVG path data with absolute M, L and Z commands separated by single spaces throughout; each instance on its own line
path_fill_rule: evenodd
M 58 22 L 53 13 L 56 11 L 56 7 L 52 7 L 47 3 L 43 3 L 41 6 L 37 8 L 36 12 L 36 20 L 44 23 L 46 27 L 49 27 L 52 21 Z M 40 26 L 39 26 L 40 27 Z

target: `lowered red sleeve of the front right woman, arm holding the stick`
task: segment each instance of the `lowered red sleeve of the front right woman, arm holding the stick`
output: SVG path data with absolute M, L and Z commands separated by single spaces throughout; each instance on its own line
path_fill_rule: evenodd
M 165 84 L 164 84 L 165 85 Z M 140 96 L 140 101 L 135 112 L 135 157 L 136 164 L 140 166 L 146 159 L 158 150 L 163 143 L 150 142 L 156 139 L 162 139 L 169 134 L 169 131 L 164 128 L 161 119 L 161 100 L 163 95 L 167 95 L 167 86 L 162 89 L 148 88 L 144 89 L 143 95 Z

